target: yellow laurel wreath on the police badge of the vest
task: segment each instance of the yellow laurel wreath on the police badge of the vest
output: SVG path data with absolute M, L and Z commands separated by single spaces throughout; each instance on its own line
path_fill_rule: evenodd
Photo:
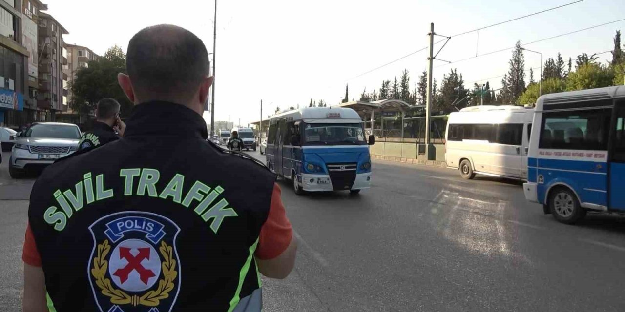
M 115 305 L 144 305 L 158 306 L 160 301 L 169 297 L 169 292 L 174 289 L 174 280 L 178 276 L 176 271 L 176 260 L 173 258 L 173 250 L 171 246 L 161 241 L 159 251 L 164 258 L 161 263 L 163 270 L 163 279 L 159 280 L 158 288 L 145 293 L 139 297 L 137 295 L 128 295 L 123 290 L 118 290 L 111 285 L 111 280 L 106 278 L 106 270 L 109 266 L 106 261 L 106 255 L 111 251 L 111 245 L 108 240 L 104 240 L 98 244 L 98 254 L 93 258 L 93 268 L 91 275 L 96 279 L 96 285 L 100 288 L 102 295 L 111 298 L 111 303 Z

